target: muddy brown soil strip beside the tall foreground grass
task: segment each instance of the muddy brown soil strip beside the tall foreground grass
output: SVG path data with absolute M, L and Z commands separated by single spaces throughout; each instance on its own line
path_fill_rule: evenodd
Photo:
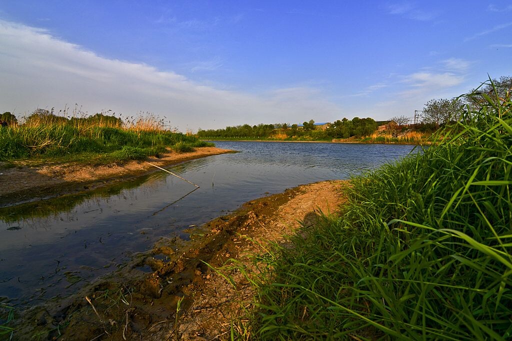
M 191 229 L 192 241 L 163 240 L 73 297 L 24 312 L 14 339 L 229 338 L 230 323 L 253 300 L 246 277 L 232 265 L 255 271 L 251 254 L 265 253 L 271 242 L 286 243 L 284 235 L 299 220 L 307 226 L 320 211 L 336 212 L 343 186 L 344 181 L 299 186 Z

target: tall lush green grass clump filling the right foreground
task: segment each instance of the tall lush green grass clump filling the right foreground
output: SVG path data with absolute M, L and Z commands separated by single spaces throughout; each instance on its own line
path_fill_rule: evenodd
M 423 153 L 353 178 L 339 218 L 260 259 L 252 336 L 512 338 L 511 111 L 510 93 L 486 97 Z

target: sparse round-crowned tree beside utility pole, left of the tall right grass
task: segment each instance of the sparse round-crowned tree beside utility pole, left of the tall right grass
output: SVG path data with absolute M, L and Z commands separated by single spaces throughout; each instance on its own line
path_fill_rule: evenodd
M 458 98 L 433 99 L 425 103 L 422 113 L 422 123 L 439 125 L 458 121 L 463 103 Z

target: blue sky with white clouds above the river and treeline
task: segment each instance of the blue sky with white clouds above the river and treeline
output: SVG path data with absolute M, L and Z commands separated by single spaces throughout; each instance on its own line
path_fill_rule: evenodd
M 378 121 L 511 75 L 510 0 L 0 1 L 0 111 L 20 118 Z

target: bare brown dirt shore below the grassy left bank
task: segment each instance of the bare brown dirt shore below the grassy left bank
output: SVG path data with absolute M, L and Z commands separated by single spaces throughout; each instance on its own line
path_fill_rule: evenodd
M 196 148 L 189 153 L 176 153 L 169 150 L 159 155 L 159 158 L 153 156 L 146 161 L 162 167 L 229 152 L 232 151 L 215 147 Z M 15 163 L 15 167 L 0 168 L 0 207 L 87 191 L 113 181 L 126 180 L 153 171 L 158 169 L 142 161 L 101 166 L 55 163 L 35 167 L 18 162 Z

